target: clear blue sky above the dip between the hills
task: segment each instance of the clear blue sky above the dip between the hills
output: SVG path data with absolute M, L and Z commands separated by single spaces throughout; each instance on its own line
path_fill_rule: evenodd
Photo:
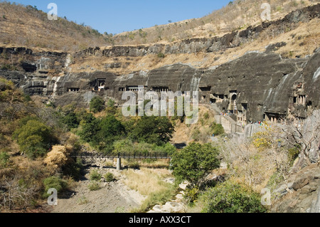
M 12 2 L 12 1 L 11 1 Z M 121 33 L 156 24 L 200 18 L 226 6 L 230 0 L 15 0 L 23 5 L 37 6 L 48 12 L 49 3 L 58 6 L 58 16 L 85 23 L 100 33 Z

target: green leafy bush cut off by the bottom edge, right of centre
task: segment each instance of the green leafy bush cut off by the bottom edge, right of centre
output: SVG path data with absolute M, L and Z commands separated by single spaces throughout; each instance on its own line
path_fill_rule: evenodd
M 200 199 L 203 213 L 265 213 L 260 194 L 247 186 L 225 181 L 207 189 Z

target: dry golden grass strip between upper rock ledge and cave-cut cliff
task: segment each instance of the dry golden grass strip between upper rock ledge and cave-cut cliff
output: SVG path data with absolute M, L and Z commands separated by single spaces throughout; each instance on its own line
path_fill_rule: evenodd
M 277 49 L 275 53 L 281 54 L 283 58 L 296 58 L 296 56 L 304 58 L 307 55 L 311 55 L 319 47 L 319 23 L 320 19 L 312 19 L 309 23 L 299 23 L 297 28 L 288 30 L 277 36 L 272 33 L 272 29 L 267 29 L 266 31 L 262 31 L 257 39 L 235 48 L 228 48 L 223 52 L 171 54 L 165 56 L 165 58 L 159 58 L 156 55 L 136 58 L 87 56 L 75 59 L 70 67 L 73 72 L 102 70 L 115 73 L 116 75 L 140 70 L 152 70 L 174 63 L 186 63 L 194 68 L 209 68 L 235 60 L 249 51 L 265 52 L 266 46 L 279 42 L 285 42 L 287 45 Z M 106 68 L 105 65 L 110 63 L 121 63 L 121 67 Z

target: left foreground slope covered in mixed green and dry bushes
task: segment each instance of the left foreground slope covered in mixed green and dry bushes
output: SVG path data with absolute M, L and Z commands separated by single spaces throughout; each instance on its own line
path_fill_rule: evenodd
M 48 187 L 57 186 L 63 191 L 80 176 L 80 162 L 69 157 L 77 149 L 76 139 L 52 111 L 38 107 L 2 78 L 0 126 L 1 211 L 37 208 L 48 196 Z

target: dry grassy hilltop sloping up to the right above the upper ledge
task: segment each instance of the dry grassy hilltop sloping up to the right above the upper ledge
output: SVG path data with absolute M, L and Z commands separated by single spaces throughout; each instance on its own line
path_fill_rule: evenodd
M 316 4 L 319 0 L 236 0 L 233 4 L 213 11 L 200 19 L 189 19 L 166 25 L 142 28 L 114 36 L 116 44 L 171 43 L 186 38 L 223 36 L 234 30 L 255 26 L 262 22 L 262 3 L 271 6 L 271 19 L 277 20 L 289 12 Z

